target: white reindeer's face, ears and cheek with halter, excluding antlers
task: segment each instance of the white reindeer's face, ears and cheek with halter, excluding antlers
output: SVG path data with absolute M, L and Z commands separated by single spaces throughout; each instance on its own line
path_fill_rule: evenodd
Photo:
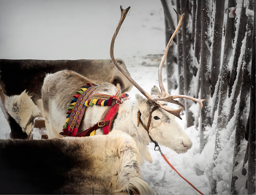
M 161 92 L 157 86 L 151 88 L 151 96 L 161 96 Z M 156 107 L 154 102 L 143 98 L 143 96 L 140 96 L 139 94 L 136 94 L 135 98 L 137 100 L 140 121 L 135 119 L 134 123 L 136 126 L 138 125 L 138 122 L 140 123 L 138 126 L 140 137 L 148 137 L 147 134 L 149 134 L 153 139 L 153 142 L 155 140 L 159 144 L 175 150 L 177 153 L 186 153 L 187 150 L 192 147 L 191 139 L 187 136 L 184 129 L 177 123 L 174 115 L 166 112 L 166 110 L 161 107 Z M 157 104 L 167 107 L 166 102 L 158 101 Z M 156 109 L 154 110 L 154 108 Z M 148 121 L 150 121 L 150 125 L 147 130 Z M 145 131 L 145 129 L 148 132 Z

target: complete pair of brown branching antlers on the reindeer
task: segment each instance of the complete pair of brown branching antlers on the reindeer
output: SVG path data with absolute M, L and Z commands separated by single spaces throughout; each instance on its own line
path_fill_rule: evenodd
M 174 100 L 174 99 L 176 99 L 176 98 L 192 99 L 193 101 L 198 102 L 198 104 L 200 104 L 200 107 L 202 108 L 203 107 L 202 102 L 204 101 L 204 99 L 203 100 L 202 99 L 195 99 L 191 96 L 183 96 L 183 95 L 170 96 L 169 94 L 167 94 L 167 92 L 165 91 L 164 85 L 162 84 L 162 66 L 165 63 L 165 58 L 167 56 L 167 51 L 170 47 L 170 43 L 173 41 L 173 37 L 175 37 L 176 33 L 178 32 L 178 29 L 181 27 L 181 23 L 182 23 L 182 20 L 184 18 L 185 13 L 183 15 L 179 15 L 178 12 L 174 9 L 176 11 L 176 14 L 178 15 L 178 26 L 177 26 L 176 30 L 174 31 L 173 36 L 170 37 L 170 41 L 167 44 L 165 54 L 162 57 L 162 61 L 159 65 L 159 70 L 158 70 L 159 86 L 160 86 L 160 89 L 162 91 L 162 96 L 160 98 L 152 98 L 148 93 L 146 93 L 146 91 L 143 90 L 143 88 L 140 87 L 140 85 L 138 85 L 138 83 L 135 82 L 135 80 L 132 79 L 132 77 L 130 77 L 127 74 L 127 72 L 124 71 L 124 69 L 122 69 L 121 66 L 119 66 L 119 64 L 116 62 L 116 59 L 114 57 L 113 50 L 114 50 L 114 44 L 115 44 L 116 36 L 118 34 L 119 29 L 121 28 L 122 23 L 124 22 L 124 19 L 127 16 L 127 12 L 129 11 L 130 7 L 128 7 L 127 9 L 123 9 L 120 6 L 120 9 L 121 9 L 121 18 L 119 20 L 118 26 L 116 27 L 116 31 L 113 34 L 113 38 L 112 38 L 111 45 L 110 45 L 110 58 L 113 61 L 113 64 L 115 64 L 116 68 L 122 74 L 124 74 L 125 77 L 127 77 L 127 79 L 129 80 L 130 83 L 132 83 L 132 85 L 134 85 L 136 88 L 138 88 L 140 93 L 143 93 L 143 95 L 146 96 L 147 99 L 151 100 L 152 102 L 155 102 L 155 104 L 157 104 L 156 101 L 165 101 L 165 102 L 170 102 L 170 103 L 173 103 L 173 104 L 178 104 L 179 106 L 181 106 L 181 108 L 179 108 L 178 110 L 171 110 L 167 107 L 162 106 L 162 104 L 157 104 L 157 106 L 162 107 L 162 109 L 166 110 L 167 112 L 170 112 L 173 115 L 176 115 L 180 119 L 181 119 L 180 112 L 181 112 L 181 109 L 182 109 L 183 105 L 181 103 L 179 103 L 178 101 Z

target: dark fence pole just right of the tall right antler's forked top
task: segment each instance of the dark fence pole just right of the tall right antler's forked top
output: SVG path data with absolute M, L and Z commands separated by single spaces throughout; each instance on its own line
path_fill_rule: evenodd
M 183 39 L 183 64 L 184 64 L 184 93 L 189 96 L 189 86 L 192 80 L 192 52 L 191 52 L 191 32 L 189 31 L 189 1 L 181 0 L 181 12 L 185 12 L 185 18 L 182 24 L 182 39 Z M 187 127 L 194 125 L 194 118 L 192 112 L 189 111 L 189 107 L 192 105 L 191 100 L 184 99 L 184 107 L 186 111 Z

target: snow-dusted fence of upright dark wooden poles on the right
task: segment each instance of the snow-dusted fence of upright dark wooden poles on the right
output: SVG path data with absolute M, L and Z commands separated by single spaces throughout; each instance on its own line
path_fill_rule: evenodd
M 200 152 L 208 134 L 216 136 L 211 193 L 223 192 L 218 191 L 217 183 L 225 178 L 217 167 L 226 145 L 233 142 L 232 179 L 226 190 L 238 194 L 236 181 L 244 175 L 244 188 L 254 194 L 255 1 L 161 1 L 166 43 L 177 23 L 171 9 L 186 13 L 167 54 L 167 85 L 169 93 L 178 89 L 180 94 L 206 99 L 203 110 L 193 113 L 192 102 L 186 100 L 184 107 L 187 127 L 195 125 L 200 131 Z

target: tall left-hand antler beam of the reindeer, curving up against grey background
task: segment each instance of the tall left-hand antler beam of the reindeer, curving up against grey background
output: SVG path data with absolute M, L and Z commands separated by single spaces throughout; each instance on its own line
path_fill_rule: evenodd
M 129 8 L 130 7 L 127 7 L 127 9 L 123 9 L 121 6 L 120 6 L 120 9 L 121 9 L 121 18 L 119 20 L 119 23 L 118 23 L 118 26 L 116 27 L 116 31 L 115 33 L 113 34 L 113 37 L 112 37 L 112 41 L 111 41 L 111 45 L 110 45 L 110 58 L 111 60 L 113 61 L 113 64 L 115 64 L 116 68 L 122 73 L 124 74 L 125 77 L 127 77 L 127 79 L 129 80 L 130 83 L 132 83 L 132 85 L 134 85 L 136 88 L 138 88 L 138 90 L 140 91 L 140 93 L 143 93 L 144 96 L 146 96 L 147 99 L 151 100 L 152 101 L 152 98 L 151 96 L 146 93 L 146 91 L 143 90 L 143 88 L 140 87 L 140 85 L 138 85 L 138 83 L 135 82 L 135 80 L 132 79 L 132 77 L 129 76 L 129 74 L 127 74 L 127 72 L 124 71 L 124 69 L 119 66 L 119 64 L 117 63 L 115 57 L 114 57 L 114 45 L 115 45 L 115 40 L 116 40 L 116 36 L 118 34 L 118 31 L 119 29 L 121 28 L 121 25 L 122 23 L 124 22 L 124 19 L 126 18 L 127 16 L 127 13 L 129 11 Z

